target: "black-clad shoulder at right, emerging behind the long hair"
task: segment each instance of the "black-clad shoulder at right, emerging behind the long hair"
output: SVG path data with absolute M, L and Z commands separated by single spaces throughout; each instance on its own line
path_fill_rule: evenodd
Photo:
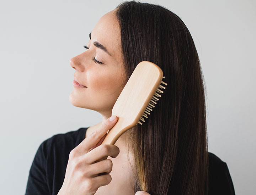
M 234 195 L 234 185 L 227 164 L 208 152 L 210 194 Z

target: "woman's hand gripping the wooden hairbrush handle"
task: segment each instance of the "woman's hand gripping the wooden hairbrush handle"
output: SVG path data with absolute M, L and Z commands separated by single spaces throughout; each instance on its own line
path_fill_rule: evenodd
M 100 145 L 107 131 L 117 122 L 117 117 L 112 122 L 110 118 L 70 152 L 64 182 L 58 195 L 94 195 L 100 186 L 111 182 L 109 173 L 113 163 L 106 158 L 117 157 L 119 148 L 112 144 Z M 95 162 L 104 157 L 105 160 Z

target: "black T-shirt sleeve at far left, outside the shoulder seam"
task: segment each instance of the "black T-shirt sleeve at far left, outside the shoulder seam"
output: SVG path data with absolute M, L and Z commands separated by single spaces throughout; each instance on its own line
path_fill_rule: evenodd
M 34 160 L 32 162 L 26 194 L 25 195 L 48 195 L 49 189 L 46 177 L 46 141 L 38 148 Z

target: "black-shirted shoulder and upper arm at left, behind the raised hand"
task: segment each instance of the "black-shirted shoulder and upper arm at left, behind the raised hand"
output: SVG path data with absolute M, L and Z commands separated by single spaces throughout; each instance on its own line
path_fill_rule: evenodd
M 86 129 L 56 134 L 41 143 L 30 168 L 26 194 L 58 193 L 69 153 L 85 138 Z

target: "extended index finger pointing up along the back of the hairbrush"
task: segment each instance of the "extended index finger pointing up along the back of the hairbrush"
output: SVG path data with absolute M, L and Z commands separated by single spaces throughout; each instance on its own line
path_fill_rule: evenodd
M 85 138 L 78 146 L 76 146 L 77 150 L 87 153 L 92 147 L 97 145 L 97 143 L 107 133 L 107 131 L 111 129 L 114 126 L 114 124 L 116 124 L 117 116 L 112 117 L 114 118 L 113 121 L 110 121 L 111 117 L 108 118 L 99 129 L 92 132 L 91 135 L 89 135 L 89 137 Z

